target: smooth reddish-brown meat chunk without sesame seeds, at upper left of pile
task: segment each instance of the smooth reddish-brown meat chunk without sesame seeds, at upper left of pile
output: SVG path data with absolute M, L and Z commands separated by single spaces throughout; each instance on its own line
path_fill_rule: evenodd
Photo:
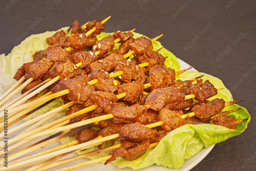
M 68 51 L 62 49 L 59 46 L 49 46 L 41 55 L 51 61 L 60 61 L 61 59 L 68 56 Z

